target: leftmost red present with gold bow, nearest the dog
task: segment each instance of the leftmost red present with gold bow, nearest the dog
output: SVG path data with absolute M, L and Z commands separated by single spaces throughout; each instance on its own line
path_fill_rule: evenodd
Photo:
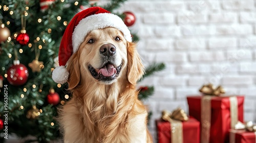
M 156 126 L 158 143 L 200 142 L 200 123 L 195 118 L 188 118 L 182 109 L 172 113 L 163 111 Z

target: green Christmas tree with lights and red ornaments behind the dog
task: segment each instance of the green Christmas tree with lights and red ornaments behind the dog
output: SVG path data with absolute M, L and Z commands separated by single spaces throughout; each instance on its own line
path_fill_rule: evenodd
M 96 1 L 97 2 L 97 1 Z M 102 6 L 113 11 L 124 0 Z M 0 132 L 2 140 L 11 133 L 32 135 L 38 142 L 60 137 L 55 121 L 57 107 L 71 97 L 67 84 L 56 84 L 52 70 L 57 66 L 61 36 L 71 18 L 95 1 L 7 0 L 0 3 Z M 117 14 L 126 26 L 135 22 L 133 13 Z M 128 16 L 129 15 L 129 16 Z M 138 37 L 133 34 L 133 40 Z M 164 64 L 146 68 L 146 76 L 162 70 Z M 147 99 L 154 87 L 140 87 L 139 99 Z

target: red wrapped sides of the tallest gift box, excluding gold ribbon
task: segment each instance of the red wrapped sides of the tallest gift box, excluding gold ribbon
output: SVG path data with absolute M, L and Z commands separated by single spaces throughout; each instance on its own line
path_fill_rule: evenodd
M 243 122 L 244 96 L 236 96 L 238 102 L 238 120 Z M 187 97 L 189 115 L 194 116 L 201 122 L 201 99 L 202 96 Z M 210 137 L 209 142 L 219 143 L 229 140 L 231 128 L 231 114 L 229 97 L 211 97 Z M 202 129 L 201 129 L 202 130 Z

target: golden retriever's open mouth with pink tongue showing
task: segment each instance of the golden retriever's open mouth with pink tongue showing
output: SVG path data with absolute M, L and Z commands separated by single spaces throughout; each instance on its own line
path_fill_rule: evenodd
M 101 68 L 95 69 L 89 65 L 88 69 L 91 75 L 99 81 L 112 81 L 116 79 L 121 71 L 122 64 L 119 66 L 114 66 L 114 64 L 108 62 L 104 64 Z

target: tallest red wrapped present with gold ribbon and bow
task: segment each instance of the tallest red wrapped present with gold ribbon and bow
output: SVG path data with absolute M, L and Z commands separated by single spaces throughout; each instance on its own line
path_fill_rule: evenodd
M 244 96 L 223 96 L 223 88 L 211 84 L 199 91 L 203 95 L 188 96 L 187 103 L 189 115 L 201 123 L 201 142 L 227 142 L 229 129 L 243 122 Z

